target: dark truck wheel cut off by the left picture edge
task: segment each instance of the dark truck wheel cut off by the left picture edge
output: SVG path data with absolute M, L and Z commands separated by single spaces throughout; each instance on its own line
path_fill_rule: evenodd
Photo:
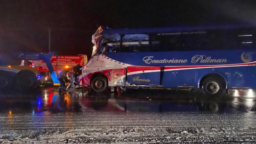
M 0 89 L 4 90 L 6 88 L 9 88 L 11 85 L 12 77 L 11 75 L 4 70 L 0 70 Z

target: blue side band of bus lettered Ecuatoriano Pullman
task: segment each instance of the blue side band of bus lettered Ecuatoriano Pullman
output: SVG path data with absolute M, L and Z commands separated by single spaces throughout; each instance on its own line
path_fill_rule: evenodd
M 136 66 L 205 66 L 256 61 L 256 50 L 134 52 L 105 55 Z

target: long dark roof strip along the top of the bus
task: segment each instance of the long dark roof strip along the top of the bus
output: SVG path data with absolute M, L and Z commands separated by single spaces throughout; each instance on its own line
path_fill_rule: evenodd
M 167 28 L 142 28 L 142 29 L 104 29 L 101 35 L 124 35 L 124 34 L 146 34 L 165 33 L 168 31 L 192 31 L 213 29 L 234 29 L 255 27 L 255 25 L 218 25 L 218 26 L 190 26 L 190 27 L 167 27 Z

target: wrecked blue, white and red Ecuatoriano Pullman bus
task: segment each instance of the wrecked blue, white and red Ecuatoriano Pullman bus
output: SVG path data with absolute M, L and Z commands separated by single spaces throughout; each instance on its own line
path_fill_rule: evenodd
M 255 31 L 237 25 L 99 27 L 79 85 L 95 92 L 109 87 L 199 89 L 212 96 L 228 89 L 255 89 Z

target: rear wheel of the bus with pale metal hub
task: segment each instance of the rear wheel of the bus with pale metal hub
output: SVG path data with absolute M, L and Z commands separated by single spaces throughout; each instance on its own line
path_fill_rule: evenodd
M 223 89 L 221 81 L 218 78 L 209 77 L 206 78 L 202 84 L 203 93 L 211 96 L 219 96 Z

